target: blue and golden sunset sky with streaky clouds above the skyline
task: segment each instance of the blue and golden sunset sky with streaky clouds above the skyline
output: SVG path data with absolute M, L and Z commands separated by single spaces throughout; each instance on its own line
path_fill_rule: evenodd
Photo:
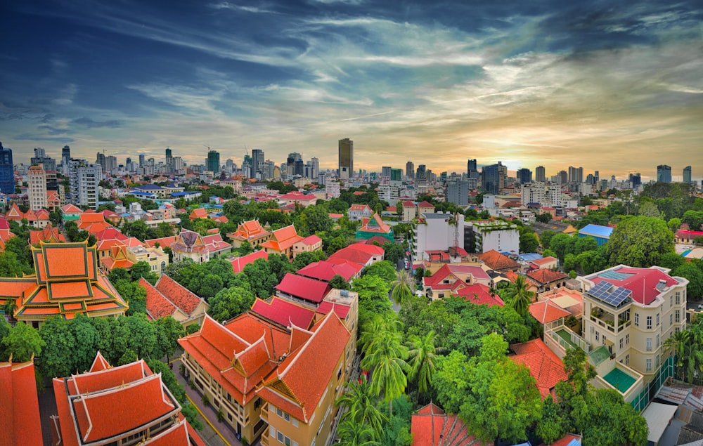
M 0 141 L 700 179 L 702 23 L 699 0 L 7 0 Z

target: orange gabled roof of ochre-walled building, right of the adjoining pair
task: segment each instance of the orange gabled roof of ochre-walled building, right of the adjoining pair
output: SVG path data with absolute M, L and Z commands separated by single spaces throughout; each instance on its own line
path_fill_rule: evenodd
M 264 400 L 306 423 L 334 378 L 337 364 L 343 361 L 344 348 L 351 336 L 333 313 L 315 324 L 312 332 L 257 391 Z

